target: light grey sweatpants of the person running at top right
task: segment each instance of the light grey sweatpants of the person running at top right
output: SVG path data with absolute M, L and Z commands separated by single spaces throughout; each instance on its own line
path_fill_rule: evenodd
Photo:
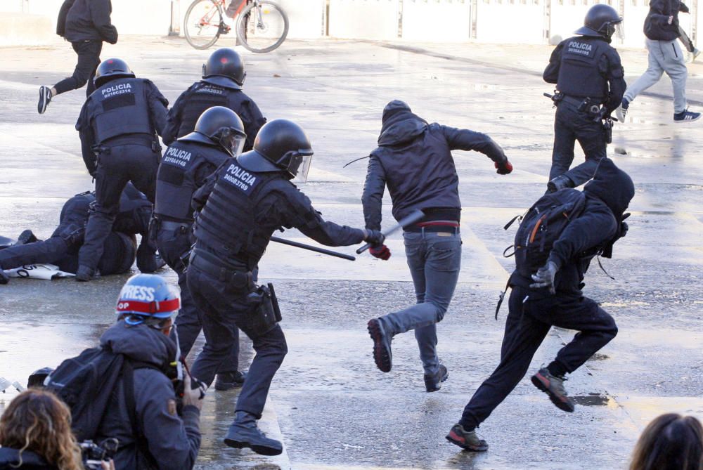
M 654 85 L 666 72 L 673 87 L 673 112 L 678 114 L 686 110 L 686 77 L 688 70 L 681 46 L 674 41 L 652 41 L 647 39 L 647 50 L 650 51 L 649 67 L 637 81 L 627 87 L 625 99 L 632 102 L 636 96 Z

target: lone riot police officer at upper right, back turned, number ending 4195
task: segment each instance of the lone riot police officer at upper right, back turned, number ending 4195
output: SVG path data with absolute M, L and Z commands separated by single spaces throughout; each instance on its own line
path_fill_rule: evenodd
M 583 27 L 576 30 L 579 36 L 560 42 L 544 70 L 544 81 L 557 84 L 549 191 L 586 183 L 606 156 L 610 113 L 620 105 L 626 88 L 620 56 L 610 46 L 621 22 L 612 6 L 592 6 Z M 575 141 L 581 144 L 586 162 L 569 170 Z

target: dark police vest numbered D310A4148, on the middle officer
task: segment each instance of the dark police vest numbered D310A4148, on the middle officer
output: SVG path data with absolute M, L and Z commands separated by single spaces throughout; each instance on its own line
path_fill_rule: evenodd
M 220 166 L 228 158 L 214 147 L 176 141 L 166 149 L 156 176 L 155 214 L 193 221 L 191 199 L 198 189 L 196 172 L 202 164 Z

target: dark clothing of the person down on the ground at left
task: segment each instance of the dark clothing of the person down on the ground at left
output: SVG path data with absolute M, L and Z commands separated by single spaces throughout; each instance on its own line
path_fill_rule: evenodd
M 63 204 L 59 225 L 51 237 L 34 243 L 20 244 L 0 250 L 0 266 L 18 268 L 25 264 L 52 263 L 60 270 L 75 273 L 78 250 L 83 243 L 85 226 L 95 196 L 91 192 L 75 195 Z M 151 203 L 129 185 L 120 197 L 120 212 L 112 233 L 103 242 L 103 256 L 98 270 L 103 275 L 124 273 L 134 263 L 134 237 L 146 235 L 151 215 Z

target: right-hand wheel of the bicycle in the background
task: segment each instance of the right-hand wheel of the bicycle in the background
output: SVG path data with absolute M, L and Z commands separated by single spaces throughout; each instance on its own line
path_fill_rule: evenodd
M 237 18 L 237 39 L 252 52 L 271 52 L 288 35 L 288 15 L 270 0 L 253 1 Z

